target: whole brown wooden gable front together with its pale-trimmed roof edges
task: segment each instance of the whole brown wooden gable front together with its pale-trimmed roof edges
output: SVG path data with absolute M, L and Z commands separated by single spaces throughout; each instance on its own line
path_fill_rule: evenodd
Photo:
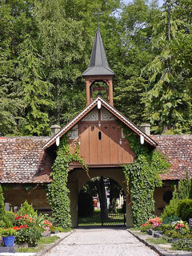
M 58 146 L 60 138 L 67 133 L 70 151 L 74 152 L 78 143 L 80 156 L 90 167 L 113 167 L 133 163 L 134 152 L 129 142 L 123 138 L 122 124 L 138 134 L 142 138 L 142 143 L 157 146 L 150 136 L 98 96 L 69 124 L 51 137 L 43 148 L 50 148 L 53 144 Z

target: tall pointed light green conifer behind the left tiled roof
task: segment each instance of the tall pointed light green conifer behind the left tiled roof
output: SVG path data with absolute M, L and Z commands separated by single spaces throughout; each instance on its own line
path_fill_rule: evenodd
M 26 35 L 18 58 L 18 75 L 21 77 L 25 104 L 22 116 L 25 118 L 22 124 L 23 135 L 40 136 L 49 132 L 47 108 L 51 107 L 52 84 L 42 78 L 42 65 L 41 56 L 38 55 L 30 35 Z

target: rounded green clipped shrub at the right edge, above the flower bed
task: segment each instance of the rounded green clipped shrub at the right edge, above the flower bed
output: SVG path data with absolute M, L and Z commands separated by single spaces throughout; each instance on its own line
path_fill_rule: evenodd
M 178 201 L 178 216 L 182 218 L 182 221 L 188 221 L 192 217 L 192 199 Z

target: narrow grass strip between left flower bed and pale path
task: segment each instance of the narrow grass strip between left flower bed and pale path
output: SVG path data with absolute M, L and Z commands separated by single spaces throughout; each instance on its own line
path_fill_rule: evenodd
M 57 236 L 40 238 L 40 240 L 38 241 L 38 246 L 29 247 L 29 248 L 18 248 L 18 252 L 19 253 L 37 253 L 39 250 L 42 250 L 45 245 L 55 242 L 58 239 L 59 237 Z

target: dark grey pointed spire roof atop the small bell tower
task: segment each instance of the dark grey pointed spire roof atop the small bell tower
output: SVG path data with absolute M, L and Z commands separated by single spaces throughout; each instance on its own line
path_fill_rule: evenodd
M 97 30 L 94 46 L 90 55 L 89 67 L 82 73 L 85 75 L 114 75 L 106 59 L 106 52 L 102 43 L 100 31 Z

